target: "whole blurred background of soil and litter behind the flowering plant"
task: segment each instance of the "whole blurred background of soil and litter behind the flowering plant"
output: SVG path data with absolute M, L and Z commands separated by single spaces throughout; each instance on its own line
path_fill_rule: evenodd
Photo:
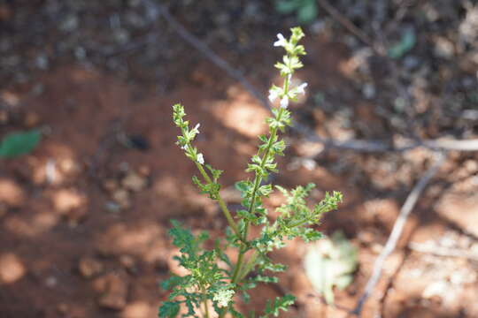
M 197 147 L 238 207 L 234 183 L 251 178 L 263 101 L 280 83 L 273 42 L 297 25 L 309 86 L 274 183 L 314 182 L 316 201 L 343 192 L 319 229 L 348 251 L 333 260 L 347 284 L 320 271 L 331 261 L 311 256 L 320 246 L 290 242 L 272 255 L 289 270 L 244 312 L 291 292 L 284 317 L 346 317 L 440 148 L 362 316 L 477 317 L 477 147 L 453 141 L 478 138 L 467 0 L 0 0 L 0 316 L 155 317 L 158 282 L 181 274 L 169 220 L 212 236 L 227 224 L 190 183 L 171 105 L 201 123 Z M 343 287 L 335 306 L 314 273 Z

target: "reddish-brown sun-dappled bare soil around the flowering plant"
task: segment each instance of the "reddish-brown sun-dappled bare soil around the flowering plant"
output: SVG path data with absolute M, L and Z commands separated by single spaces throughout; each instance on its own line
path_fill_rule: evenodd
M 307 71 L 298 76 L 310 87 L 319 91 L 351 85 L 351 57 L 343 45 L 320 37 L 305 45 Z M 183 54 L 189 57 L 188 51 Z M 273 61 L 272 54 L 243 58 Z M 258 87 L 276 79 L 269 64 L 254 65 L 251 80 L 261 83 Z M 174 145 L 178 132 L 171 123 L 171 105 L 181 102 L 189 120 L 201 123 L 197 147 L 207 162 L 225 170 L 221 181 L 232 208 L 237 205 L 234 182 L 248 178 L 243 169 L 255 152 L 255 136 L 265 129 L 267 112 L 208 61 L 181 69 L 181 76 L 171 69 L 173 88 L 158 89 L 128 83 L 93 66 L 63 63 L 35 72 L 27 84 L 0 91 L 2 100 L 12 105 L 0 132 L 40 126 L 44 135 L 34 153 L 3 160 L 0 168 L 0 317 L 155 317 L 166 299 L 158 283 L 169 271 L 181 273 L 172 260 L 177 250 L 167 235 L 170 219 L 212 236 L 227 225 L 213 202 L 189 181 L 197 171 Z M 359 124 L 378 127 L 374 137 L 384 134 L 382 120 L 367 111 L 371 106 L 361 95 L 346 99 L 356 101 L 352 109 Z M 298 104 L 293 111 L 305 116 L 309 110 Z M 318 133 L 330 133 L 321 125 L 324 116 L 312 110 Z M 332 132 L 346 133 L 340 127 Z M 343 192 L 343 205 L 325 217 L 320 230 L 343 230 L 358 246 L 359 268 L 353 284 L 336 293 L 336 307 L 326 306 L 305 276 L 305 244 L 291 242 L 273 254 L 274 260 L 289 265 L 281 284 L 260 286 L 243 309 L 259 310 L 266 299 L 292 292 L 297 304 L 284 316 L 346 317 L 410 185 L 431 155 L 413 150 L 406 165 L 390 168 L 385 163 L 398 160 L 392 155 L 331 151 L 310 168 L 300 159 L 317 145 L 293 135 L 288 143 L 291 147 L 280 161 L 283 173 L 275 182 L 314 182 L 316 200 L 325 191 Z M 409 242 L 432 242 L 477 251 L 476 160 L 476 155 L 457 155 L 443 165 L 386 262 L 364 317 L 478 316 L 476 261 L 407 248 Z M 274 207 L 280 200 L 272 197 L 267 204 Z

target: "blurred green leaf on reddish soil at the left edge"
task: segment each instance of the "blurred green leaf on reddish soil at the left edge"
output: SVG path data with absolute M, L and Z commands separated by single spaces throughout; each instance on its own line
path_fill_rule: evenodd
M 13 158 L 32 152 L 40 140 L 42 133 L 34 129 L 28 132 L 9 133 L 0 143 L 0 157 Z

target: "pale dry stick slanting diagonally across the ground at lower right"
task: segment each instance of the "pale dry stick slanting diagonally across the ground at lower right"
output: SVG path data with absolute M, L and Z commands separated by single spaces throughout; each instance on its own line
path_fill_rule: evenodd
M 436 174 L 436 171 L 440 168 L 443 161 L 445 159 L 445 155 L 443 153 L 438 153 L 436 162 L 425 172 L 422 178 L 420 178 L 419 182 L 413 187 L 412 192 L 408 195 L 405 200 L 404 205 L 400 209 L 400 213 L 398 214 L 397 221 L 393 225 L 393 229 L 390 233 L 389 239 L 385 244 L 385 247 L 382 250 L 382 253 L 377 257 L 374 262 L 374 269 L 372 271 L 372 276 L 368 280 L 366 284 L 366 288 L 360 298 L 358 299 L 357 306 L 352 311 L 352 314 L 356 314 L 360 316 L 362 311 L 362 307 L 364 306 L 366 299 L 374 292 L 375 285 L 378 283 L 380 277 L 382 276 L 382 269 L 383 263 L 397 246 L 397 241 L 400 239 L 402 231 L 404 230 L 406 220 L 410 213 L 412 212 L 415 203 L 420 198 L 420 194 L 423 192 L 425 187 L 428 185 L 428 182 L 431 178 Z

